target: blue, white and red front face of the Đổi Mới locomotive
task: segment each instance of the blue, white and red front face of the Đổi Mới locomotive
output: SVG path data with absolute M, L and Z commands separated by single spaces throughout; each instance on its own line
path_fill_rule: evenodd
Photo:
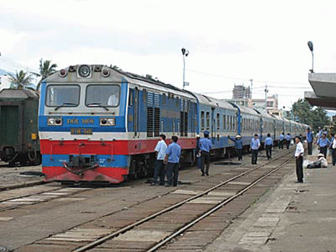
M 69 66 L 43 81 L 38 130 L 45 181 L 125 179 L 126 98 L 127 81 L 107 66 Z

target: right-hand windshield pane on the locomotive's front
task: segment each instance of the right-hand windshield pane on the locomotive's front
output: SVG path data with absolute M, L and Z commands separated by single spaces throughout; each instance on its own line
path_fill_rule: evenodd
M 118 85 L 87 85 L 86 106 L 118 106 L 120 86 Z

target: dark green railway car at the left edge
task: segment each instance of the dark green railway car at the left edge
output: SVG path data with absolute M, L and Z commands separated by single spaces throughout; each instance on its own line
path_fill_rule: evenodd
M 0 158 L 10 166 L 41 164 L 38 98 L 31 90 L 0 92 Z

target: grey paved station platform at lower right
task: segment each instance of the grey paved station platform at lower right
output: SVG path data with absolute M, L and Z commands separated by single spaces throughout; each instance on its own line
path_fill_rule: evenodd
M 336 251 L 336 166 L 327 160 L 328 168 L 304 169 L 304 183 L 295 183 L 293 167 L 203 251 Z

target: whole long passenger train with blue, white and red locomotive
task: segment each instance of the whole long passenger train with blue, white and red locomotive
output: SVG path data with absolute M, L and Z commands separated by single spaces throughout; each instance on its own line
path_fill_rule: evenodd
M 46 181 L 120 183 L 151 173 L 160 134 L 179 137 L 181 160 L 193 163 L 196 134 L 210 132 L 213 155 L 225 156 L 240 134 L 263 141 L 305 125 L 194 94 L 102 65 L 76 65 L 41 85 L 38 129 Z

